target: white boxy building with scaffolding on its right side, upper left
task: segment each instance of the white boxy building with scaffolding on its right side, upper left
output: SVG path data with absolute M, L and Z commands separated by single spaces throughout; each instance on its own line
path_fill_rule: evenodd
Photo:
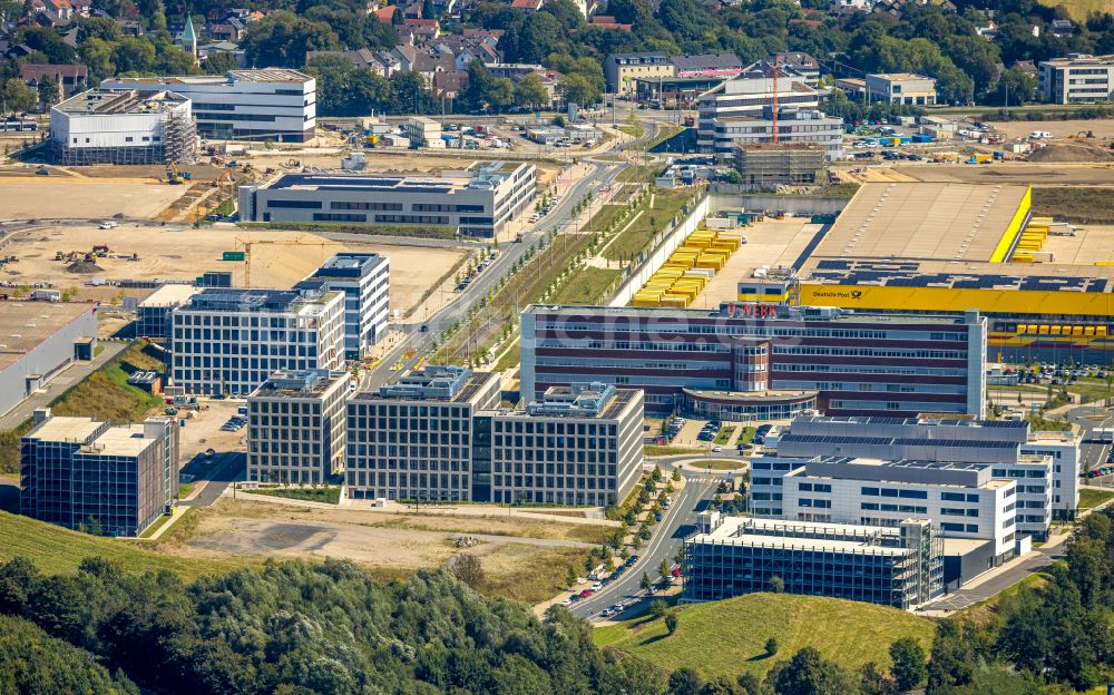
M 192 164 L 190 100 L 163 89 L 101 88 L 50 108 L 50 149 L 62 165 Z

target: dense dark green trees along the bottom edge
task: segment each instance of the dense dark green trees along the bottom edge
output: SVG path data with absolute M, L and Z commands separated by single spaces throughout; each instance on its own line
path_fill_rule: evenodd
M 1114 675 L 1111 511 L 1087 517 L 1040 581 L 941 620 L 927 664 L 912 639 L 891 645 L 888 668 L 852 670 L 805 647 L 763 679 L 598 649 L 566 609 L 538 620 L 470 589 L 477 562 L 450 567 L 381 583 L 350 561 L 268 561 L 186 585 L 99 558 L 70 576 L 16 558 L 0 565 L 0 692 L 1066 695 Z M 769 640 L 765 656 L 778 655 Z

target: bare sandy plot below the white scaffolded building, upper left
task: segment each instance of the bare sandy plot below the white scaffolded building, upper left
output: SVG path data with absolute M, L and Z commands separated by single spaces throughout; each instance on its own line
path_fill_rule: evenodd
M 6 176 L 0 178 L 0 217 L 154 217 L 177 200 L 184 188 L 150 178 Z

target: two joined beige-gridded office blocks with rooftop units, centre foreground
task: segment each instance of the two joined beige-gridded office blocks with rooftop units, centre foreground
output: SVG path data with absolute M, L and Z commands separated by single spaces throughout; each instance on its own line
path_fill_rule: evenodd
M 603 507 L 642 467 L 642 393 L 604 384 L 551 389 L 499 408 L 499 376 L 426 369 L 348 404 L 354 499 Z

